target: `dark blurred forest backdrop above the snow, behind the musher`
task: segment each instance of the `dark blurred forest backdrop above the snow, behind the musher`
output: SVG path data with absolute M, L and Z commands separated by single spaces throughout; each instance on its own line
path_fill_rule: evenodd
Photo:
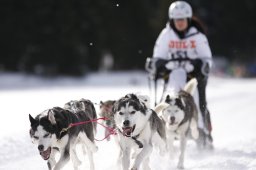
M 144 70 L 171 0 L 1 0 L 0 72 L 83 76 Z M 256 2 L 188 1 L 207 28 L 213 74 L 256 76 Z

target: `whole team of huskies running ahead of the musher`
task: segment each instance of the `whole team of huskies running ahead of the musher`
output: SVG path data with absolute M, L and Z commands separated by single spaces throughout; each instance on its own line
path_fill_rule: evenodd
M 105 125 L 115 129 L 115 143 L 119 146 L 117 165 L 122 170 L 149 170 L 149 157 L 153 147 L 159 154 L 174 152 L 174 141 L 180 142 L 177 167 L 184 168 L 186 141 L 198 141 L 197 107 L 193 99 L 196 79 L 190 80 L 177 94 L 166 94 L 154 109 L 150 108 L 147 96 L 127 94 L 117 101 L 100 103 L 100 117 Z M 71 160 L 78 169 L 81 161 L 76 145 L 81 144 L 87 154 L 90 169 L 94 170 L 93 153 L 95 145 L 97 114 L 90 100 L 72 100 L 64 107 L 43 111 L 35 118 L 29 115 L 32 142 L 39 154 L 47 161 L 49 170 L 62 169 Z M 79 123 L 83 124 L 79 124 Z M 106 132 L 107 135 L 108 132 Z M 109 140 L 109 138 L 108 138 Z M 197 142 L 199 143 L 199 142 Z M 55 160 L 55 154 L 60 154 Z

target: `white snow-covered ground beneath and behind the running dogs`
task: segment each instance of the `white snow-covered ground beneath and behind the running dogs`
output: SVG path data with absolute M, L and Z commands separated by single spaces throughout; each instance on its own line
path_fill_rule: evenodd
M 0 73 L 0 170 L 43 170 L 46 162 L 29 138 L 28 114 L 36 116 L 71 99 L 118 99 L 126 93 L 149 94 L 144 72 L 90 74 L 84 78 L 38 78 Z M 188 143 L 185 169 L 256 169 L 256 79 L 211 77 L 207 89 L 212 116 L 213 151 L 198 151 Z M 98 109 L 98 105 L 95 105 Z M 103 129 L 99 127 L 102 138 Z M 96 170 L 113 170 L 117 149 L 112 141 L 96 142 Z M 87 157 L 79 155 L 88 169 Z M 152 170 L 176 169 L 177 158 L 151 155 Z M 69 163 L 65 169 L 72 169 Z

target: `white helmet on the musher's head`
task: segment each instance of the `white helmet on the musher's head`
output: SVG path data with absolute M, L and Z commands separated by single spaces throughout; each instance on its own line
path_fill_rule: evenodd
M 185 1 L 173 2 L 169 7 L 169 19 L 191 18 L 192 8 Z

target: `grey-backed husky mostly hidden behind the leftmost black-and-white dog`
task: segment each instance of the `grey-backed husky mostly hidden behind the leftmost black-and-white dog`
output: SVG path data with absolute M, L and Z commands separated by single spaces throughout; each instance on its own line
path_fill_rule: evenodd
M 87 116 L 90 120 L 97 119 L 97 114 L 96 114 L 95 108 L 93 106 L 93 103 L 90 100 L 86 100 L 83 98 L 78 101 L 71 100 L 70 102 L 68 102 L 64 105 L 64 109 L 70 110 L 73 113 L 83 111 L 87 114 Z M 97 123 L 96 122 L 93 122 L 93 130 L 94 130 L 94 135 L 95 135 L 96 131 L 97 131 Z

